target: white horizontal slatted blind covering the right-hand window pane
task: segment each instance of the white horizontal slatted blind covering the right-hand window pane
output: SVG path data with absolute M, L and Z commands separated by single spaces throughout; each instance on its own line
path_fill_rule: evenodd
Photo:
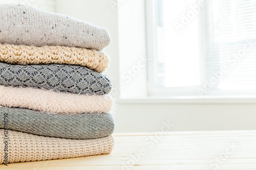
M 206 79 L 228 67 L 215 88 L 256 89 L 256 1 L 212 0 L 206 53 Z

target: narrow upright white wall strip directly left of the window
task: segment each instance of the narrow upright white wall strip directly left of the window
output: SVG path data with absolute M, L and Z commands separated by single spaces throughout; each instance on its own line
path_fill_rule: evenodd
M 143 0 L 118 5 L 120 98 L 147 96 L 146 34 Z M 136 5 L 135 5 L 136 4 Z

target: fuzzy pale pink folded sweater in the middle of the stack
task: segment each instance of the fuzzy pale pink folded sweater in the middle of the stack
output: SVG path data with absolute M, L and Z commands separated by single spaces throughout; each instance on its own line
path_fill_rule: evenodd
M 0 106 L 48 113 L 109 113 L 113 109 L 113 99 L 109 94 L 79 95 L 0 85 Z

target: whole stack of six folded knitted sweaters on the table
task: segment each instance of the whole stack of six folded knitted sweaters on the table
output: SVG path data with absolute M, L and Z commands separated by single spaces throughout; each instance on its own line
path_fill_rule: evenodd
M 111 153 L 109 32 L 15 4 L 0 21 L 0 164 Z

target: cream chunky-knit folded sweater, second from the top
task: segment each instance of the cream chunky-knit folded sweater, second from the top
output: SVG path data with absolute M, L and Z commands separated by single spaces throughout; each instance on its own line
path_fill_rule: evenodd
M 0 61 L 19 65 L 52 63 L 81 65 L 97 72 L 103 72 L 109 65 L 109 57 L 103 52 L 66 46 L 0 44 Z

